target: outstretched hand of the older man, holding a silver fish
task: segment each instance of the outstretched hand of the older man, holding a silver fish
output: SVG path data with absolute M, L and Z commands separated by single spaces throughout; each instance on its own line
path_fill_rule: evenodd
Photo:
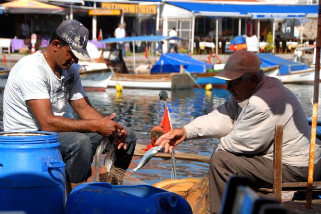
M 161 145 L 165 148 L 165 152 L 172 153 L 174 146 L 182 143 L 186 140 L 187 134 L 184 127 L 175 128 L 160 136 L 160 138 L 155 142 L 155 145 Z

